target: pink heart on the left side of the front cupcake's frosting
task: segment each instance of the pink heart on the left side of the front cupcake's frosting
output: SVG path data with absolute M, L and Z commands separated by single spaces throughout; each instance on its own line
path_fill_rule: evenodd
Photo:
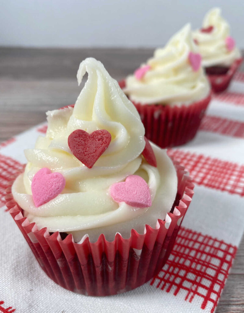
M 31 190 L 36 207 L 57 197 L 65 186 L 65 178 L 60 173 L 52 173 L 49 168 L 43 167 L 33 177 Z

